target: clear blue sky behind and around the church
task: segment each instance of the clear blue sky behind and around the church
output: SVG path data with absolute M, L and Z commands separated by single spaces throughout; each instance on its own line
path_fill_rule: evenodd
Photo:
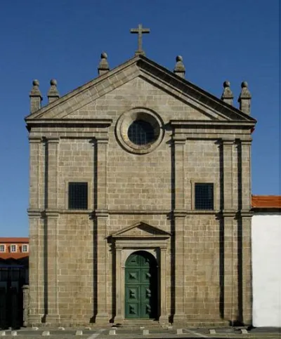
M 235 105 L 249 83 L 258 120 L 252 147 L 252 192 L 280 194 L 279 0 L 13 0 L 0 8 L 0 237 L 28 235 L 29 114 L 32 79 L 46 98 L 51 78 L 60 95 L 131 58 L 150 28 L 148 58 L 173 69 L 182 55 L 186 78 L 220 97 L 229 80 Z M 46 99 L 43 102 L 46 103 Z

